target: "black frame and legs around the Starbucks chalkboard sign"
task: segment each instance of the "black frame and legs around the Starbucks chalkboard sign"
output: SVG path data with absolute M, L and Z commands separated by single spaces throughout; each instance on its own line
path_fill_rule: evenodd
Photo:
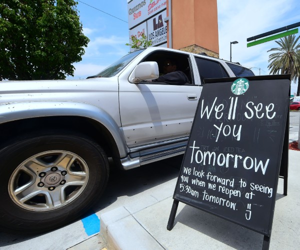
M 233 81 L 239 79 L 240 77 L 231 77 L 231 78 L 218 78 L 218 79 L 204 79 L 204 82 L 205 84 L 209 83 L 208 85 L 210 85 L 210 83 L 212 84 L 219 84 L 219 83 L 232 83 Z M 290 90 L 290 75 L 266 75 L 266 76 L 249 76 L 249 77 L 244 77 L 246 78 L 250 84 L 255 82 L 257 83 L 257 81 L 261 81 L 261 82 L 269 82 L 269 81 L 272 81 L 272 82 L 277 82 L 280 81 L 282 84 L 286 84 L 284 85 L 284 89 L 286 91 L 286 88 L 288 87 L 288 89 Z M 276 83 L 276 84 L 277 84 Z M 287 85 L 288 84 L 288 85 Z M 256 85 L 256 86 L 260 86 L 261 85 Z M 203 86 L 203 89 L 205 89 L 205 85 Z M 202 89 L 202 93 L 203 93 L 203 89 Z M 204 91 L 205 92 L 205 91 Z M 277 140 L 277 142 L 279 143 L 278 145 L 278 149 L 279 151 L 281 151 L 281 153 L 279 153 L 278 157 L 277 157 L 277 160 L 276 160 L 276 167 L 275 167 L 275 174 L 274 175 L 274 179 L 273 179 L 273 185 L 272 185 L 272 190 L 274 192 L 273 196 L 272 196 L 272 199 L 271 199 L 271 202 L 268 201 L 269 205 L 270 205 L 270 209 L 268 210 L 269 211 L 269 219 L 268 219 L 268 226 L 266 229 L 257 229 L 255 228 L 255 226 L 250 226 L 248 224 L 244 224 L 243 222 L 240 222 L 240 221 L 236 221 L 236 219 L 231 219 L 230 216 L 229 217 L 226 217 L 224 216 L 223 214 L 219 214 L 215 211 L 210 211 L 209 209 L 206 209 L 205 208 L 205 201 L 204 202 L 195 202 L 195 199 L 193 198 L 190 198 L 190 197 L 185 197 L 184 194 L 182 194 L 182 197 L 178 194 L 179 193 L 179 178 L 180 178 L 180 175 L 182 175 L 183 173 L 183 164 L 186 163 L 185 161 L 185 155 L 186 155 L 186 152 L 188 150 L 188 146 L 191 145 L 190 141 L 193 140 L 192 136 L 192 132 L 193 130 L 195 130 L 196 128 L 194 128 L 194 125 L 196 123 L 196 120 L 197 120 L 197 113 L 199 112 L 198 111 L 198 108 L 199 106 L 201 106 L 200 104 L 200 101 L 203 99 L 203 96 L 202 96 L 202 93 L 201 93 L 201 97 L 199 99 L 199 102 L 198 102 L 198 106 L 197 106 L 197 111 L 196 111 L 196 115 L 195 115 L 195 118 L 194 118 L 194 121 L 193 121 L 193 124 L 192 124 L 192 127 L 191 127 L 191 133 L 190 133 L 190 137 L 189 137 L 189 140 L 188 140 L 188 143 L 187 143 L 187 146 L 186 146 L 186 150 L 185 150 L 185 154 L 184 154 L 184 157 L 183 157 L 183 160 L 182 160 L 182 164 L 181 164 L 181 168 L 180 168 L 180 172 L 179 172 L 179 176 L 177 178 L 177 182 L 176 182 L 176 187 L 175 187 L 175 190 L 174 190 L 174 194 L 173 194 L 173 205 L 172 205 L 172 208 L 171 208 L 171 212 L 170 212 L 170 216 L 169 216 L 169 220 L 168 220 L 168 224 L 167 224 L 167 229 L 168 230 L 171 230 L 172 227 L 173 227 L 173 223 L 174 223 L 174 218 L 175 218 L 175 215 L 176 215 L 176 210 L 177 210 L 177 207 L 178 207 L 178 202 L 183 202 L 185 204 L 188 204 L 188 205 L 191 205 L 195 208 L 198 208 L 198 209 L 201 209 L 203 211 L 206 211 L 208 213 L 211 213 L 213 215 L 216 215 L 216 216 L 219 216 L 221 218 L 224 218 L 228 221 L 231 221 L 231 222 L 234 222 L 236 224 L 239 224 L 241 226 L 244 226 L 246 228 L 249 228 L 251 230 L 254 230 L 256 232 L 259 232 L 261 234 L 264 235 L 264 238 L 263 238 L 263 245 L 262 245 L 262 248 L 263 249 L 268 249 L 269 247 L 269 241 L 270 241 L 270 234 L 271 234 L 271 227 L 272 227 L 272 220 L 273 220 L 273 214 L 274 214 L 274 206 L 275 206 L 275 194 L 276 194 L 276 191 L 277 191 L 277 184 L 278 184 L 278 177 L 281 177 L 284 179 L 284 190 L 283 190 L 283 194 L 284 195 L 287 195 L 287 173 L 288 173 L 288 128 L 289 128 L 289 117 L 288 117 L 288 109 L 289 109 L 289 92 L 288 91 L 288 94 L 286 95 L 286 97 L 283 97 L 284 100 L 283 101 L 283 109 L 281 108 L 281 113 L 283 115 L 283 121 L 281 122 L 281 127 L 283 128 L 280 132 L 280 136 L 279 136 L 279 140 Z M 221 93 L 222 94 L 222 93 Z M 286 100 L 285 100 L 286 98 Z M 233 99 L 233 98 L 232 98 Z M 202 102 L 203 103 L 203 102 Z M 232 104 L 232 102 L 231 102 Z M 281 103 L 282 104 L 282 103 Z M 230 109 L 231 110 L 231 109 Z M 208 114 L 208 113 L 207 113 Z M 227 114 L 228 115 L 228 114 Z M 200 119 L 200 118 L 199 118 Z M 193 141 L 193 143 L 195 143 L 195 141 Z M 205 143 L 204 143 L 205 144 Z M 191 147 L 191 146 L 190 146 Z M 256 160 L 256 159 L 255 159 Z M 210 162 L 209 162 L 210 163 Z M 280 170 L 280 174 L 279 174 L 279 170 Z M 186 173 L 186 172 L 185 172 Z M 203 173 L 202 173 L 203 174 Z M 264 174 L 264 173 L 263 173 Z M 186 177 L 186 176 L 185 176 Z M 182 177 L 181 177 L 182 178 Z M 184 178 L 184 176 L 183 176 Z M 208 177 L 207 177 L 208 179 Z M 183 181 L 181 179 L 181 181 Z M 234 181 L 234 180 L 233 180 Z M 180 183 L 182 184 L 182 183 Z M 251 183 L 252 184 L 252 183 Z M 203 192 L 204 193 L 204 192 Z M 205 195 L 205 194 L 204 194 Z M 255 194 L 253 194 L 255 195 Z M 271 194 L 272 195 L 272 194 Z M 203 198 L 204 199 L 204 198 Z M 204 204 L 204 206 L 203 206 Z M 237 210 L 237 209 L 236 209 Z

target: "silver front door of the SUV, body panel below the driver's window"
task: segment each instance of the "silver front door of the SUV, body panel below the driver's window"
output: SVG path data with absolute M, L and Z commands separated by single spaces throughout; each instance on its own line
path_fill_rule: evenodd
M 119 82 L 120 117 L 127 146 L 188 136 L 200 93 L 201 87 L 195 84 Z

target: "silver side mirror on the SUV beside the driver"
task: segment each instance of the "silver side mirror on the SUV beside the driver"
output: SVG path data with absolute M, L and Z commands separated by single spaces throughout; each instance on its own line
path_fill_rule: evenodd
M 152 80 L 159 76 L 158 65 L 156 61 L 144 61 L 135 66 L 129 75 L 129 81 L 137 83 L 141 80 Z

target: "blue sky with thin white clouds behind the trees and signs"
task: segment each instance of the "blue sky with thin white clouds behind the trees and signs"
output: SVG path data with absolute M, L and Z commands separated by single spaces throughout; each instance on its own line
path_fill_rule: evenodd
M 94 75 L 129 52 L 127 0 L 77 0 L 83 33 L 90 39 L 80 62 L 74 63 L 74 76 Z M 184 1 L 181 0 L 182 4 Z M 248 37 L 300 21 L 298 0 L 217 0 L 219 58 L 252 67 L 255 75 L 269 74 L 267 50 L 278 47 L 269 41 L 246 46 Z M 114 16 L 114 17 L 113 17 Z M 300 27 L 298 27 L 300 30 Z M 204 35 L 204 34 L 203 34 Z M 296 34 L 296 37 L 300 32 Z M 260 70 L 259 70 L 260 68 Z M 291 83 L 291 94 L 296 84 Z

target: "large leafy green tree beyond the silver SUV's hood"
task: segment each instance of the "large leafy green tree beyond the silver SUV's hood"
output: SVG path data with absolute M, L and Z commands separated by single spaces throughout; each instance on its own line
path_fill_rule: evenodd
M 5 0 L 0 3 L 0 76 L 64 79 L 73 75 L 89 42 L 74 0 Z

